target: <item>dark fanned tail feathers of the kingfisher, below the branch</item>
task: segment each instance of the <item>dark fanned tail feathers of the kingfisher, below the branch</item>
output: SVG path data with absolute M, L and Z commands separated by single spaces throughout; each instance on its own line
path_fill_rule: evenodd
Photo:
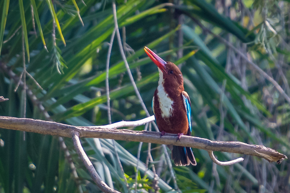
M 196 161 L 190 147 L 173 146 L 171 158 L 176 166 L 196 166 Z

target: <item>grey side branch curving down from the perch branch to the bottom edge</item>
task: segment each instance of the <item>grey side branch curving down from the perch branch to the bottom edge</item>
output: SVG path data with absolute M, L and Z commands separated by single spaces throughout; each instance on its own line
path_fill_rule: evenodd
M 91 178 L 93 181 L 97 184 L 97 186 L 106 193 L 120 193 L 117 190 L 114 190 L 110 188 L 99 176 L 97 171 L 95 170 L 92 162 L 86 155 L 86 152 L 84 151 L 83 147 L 81 146 L 81 141 L 79 140 L 79 133 L 77 131 L 73 132 L 73 144 L 75 146 L 75 149 L 77 151 L 77 154 L 81 158 L 81 161 L 84 163 L 85 167 L 87 168 Z

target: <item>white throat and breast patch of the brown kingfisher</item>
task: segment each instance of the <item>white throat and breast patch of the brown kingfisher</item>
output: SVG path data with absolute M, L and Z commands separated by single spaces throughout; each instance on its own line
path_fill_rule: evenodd
M 165 92 L 163 87 L 163 73 L 159 70 L 159 81 L 158 81 L 158 87 L 157 87 L 157 96 L 159 99 L 159 106 L 161 109 L 161 116 L 164 117 L 170 117 L 173 113 L 173 100 L 168 96 L 168 94 Z

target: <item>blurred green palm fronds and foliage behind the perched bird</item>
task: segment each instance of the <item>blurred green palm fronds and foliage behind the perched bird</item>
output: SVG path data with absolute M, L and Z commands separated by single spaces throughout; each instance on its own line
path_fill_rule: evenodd
M 289 1 L 117 0 L 122 48 L 147 110 L 122 59 L 113 4 L 1 0 L 0 95 L 9 101 L 0 104 L 0 115 L 76 126 L 152 115 L 158 71 L 147 46 L 180 67 L 194 136 L 263 144 L 289 157 Z M 0 129 L 0 192 L 99 192 L 72 140 L 64 143 Z M 82 139 L 82 145 L 102 179 L 120 192 L 290 192 L 288 159 L 278 165 L 243 155 L 241 163 L 217 166 L 194 149 L 197 166 L 171 168 L 170 151 L 161 145 L 108 139 Z

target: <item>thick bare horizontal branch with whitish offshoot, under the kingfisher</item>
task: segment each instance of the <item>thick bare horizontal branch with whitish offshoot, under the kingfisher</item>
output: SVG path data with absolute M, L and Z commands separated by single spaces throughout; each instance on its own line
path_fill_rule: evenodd
M 125 126 L 138 126 L 154 119 L 153 116 L 145 119 L 128 122 L 122 121 L 113 123 L 107 126 L 77 127 L 56 122 L 33 120 L 26 118 L 2 117 L 0 116 L 0 127 L 13 130 L 21 130 L 27 132 L 41 133 L 46 135 L 58 135 L 61 137 L 71 137 L 74 131 L 79 132 L 80 137 L 89 138 L 104 138 L 125 141 L 139 141 L 145 143 L 188 146 L 197 149 L 204 149 L 207 151 L 222 151 L 239 153 L 245 155 L 252 155 L 262 157 L 269 162 L 276 161 L 281 163 L 287 157 L 276 150 L 267 148 L 262 145 L 250 145 L 239 141 L 211 141 L 200 137 L 191 137 L 183 135 L 180 141 L 176 141 L 176 135 L 166 134 L 160 138 L 159 132 L 153 131 L 132 131 L 128 129 L 117 129 Z M 146 121 L 144 121 L 146 120 Z M 122 123 L 122 124 L 120 124 Z M 133 124 L 132 124 L 133 123 Z M 114 128 L 112 128 L 112 125 Z

